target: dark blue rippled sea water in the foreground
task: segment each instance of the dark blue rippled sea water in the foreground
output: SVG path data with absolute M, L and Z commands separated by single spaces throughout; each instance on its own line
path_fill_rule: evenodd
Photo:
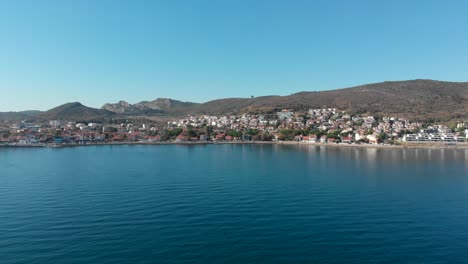
M 0 263 L 468 263 L 468 151 L 0 148 Z

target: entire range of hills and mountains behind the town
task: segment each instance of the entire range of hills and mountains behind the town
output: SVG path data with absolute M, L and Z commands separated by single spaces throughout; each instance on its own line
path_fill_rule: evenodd
M 203 104 L 159 98 L 137 104 L 120 101 L 95 109 L 80 103 L 69 103 L 46 112 L 0 113 L 0 120 L 105 120 L 187 114 L 265 113 L 283 108 L 306 111 L 321 107 L 336 107 L 351 113 L 406 117 L 416 121 L 468 120 L 468 83 L 433 80 L 382 82 L 289 96 L 225 98 Z

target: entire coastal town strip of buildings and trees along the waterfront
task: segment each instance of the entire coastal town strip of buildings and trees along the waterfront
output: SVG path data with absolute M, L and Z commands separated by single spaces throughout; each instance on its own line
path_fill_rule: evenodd
M 107 142 L 299 141 L 309 143 L 398 144 L 465 142 L 468 126 L 423 127 L 405 118 L 350 114 L 336 108 L 242 115 L 199 115 L 164 124 L 0 122 L 0 144 L 88 144 Z

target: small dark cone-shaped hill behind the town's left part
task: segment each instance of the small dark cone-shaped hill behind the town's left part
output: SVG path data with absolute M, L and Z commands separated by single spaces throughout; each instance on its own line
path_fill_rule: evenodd
M 109 118 L 115 113 L 91 108 L 82 105 L 81 103 L 67 103 L 61 106 L 52 108 L 46 112 L 42 112 L 36 116 L 36 119 L 43 120 L 74 120 L 74 121 L 98 121 Z

